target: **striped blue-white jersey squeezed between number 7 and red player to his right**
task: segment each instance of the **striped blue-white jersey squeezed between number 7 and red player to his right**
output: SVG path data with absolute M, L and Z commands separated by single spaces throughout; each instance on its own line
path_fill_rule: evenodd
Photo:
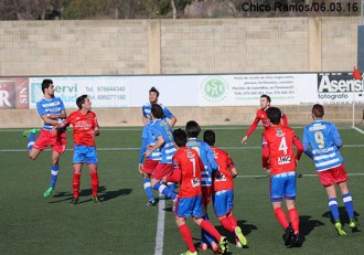
M 212 172 L 218 169 L 214 151 L 206 142 L 197 138 L 189 138 L 186 147 L 197 151 L 205 168 L 203 171 L 201 171 L 201 185 L 212 185 Z

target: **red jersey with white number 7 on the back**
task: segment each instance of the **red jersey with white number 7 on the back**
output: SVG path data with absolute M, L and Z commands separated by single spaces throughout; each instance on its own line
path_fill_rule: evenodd
M 172 158 L 173 174 L 168 181 L 181 182 L 179 198 L 201 195 L 201 170 L 204 169 L 199 153 L 194 149 L 180 148 Z M 175 178 L 180 172 L 179 178 Z

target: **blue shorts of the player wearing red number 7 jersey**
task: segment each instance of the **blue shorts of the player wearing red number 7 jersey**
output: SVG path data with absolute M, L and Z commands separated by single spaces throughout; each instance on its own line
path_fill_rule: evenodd
M 202 217 L 202 195 L 192 198 L 178 198 L 174 214 L 180 217 Z

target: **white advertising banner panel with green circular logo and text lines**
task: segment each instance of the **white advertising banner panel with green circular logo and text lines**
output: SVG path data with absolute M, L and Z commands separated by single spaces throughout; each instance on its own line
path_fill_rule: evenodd
M 260 95 L 275 105 L 317 102 L 317 74 L 237 74 L 200 76 L 200 106 L 255 106 Z

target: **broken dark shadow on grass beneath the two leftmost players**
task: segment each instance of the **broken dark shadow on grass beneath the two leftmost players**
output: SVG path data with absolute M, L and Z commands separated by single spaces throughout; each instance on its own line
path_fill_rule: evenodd
M 98 196 L 100 199 L 101 202 L 106 202 L 108 200 L 111 199 L 116 199 L 120 195 L 127 195 L 130 194 L 132 191 L 132 189 L 120 189 L 120 190 L 107 190 L 104 185 L 98 188 Z M 88 196 L 90 198 L 90 195 L 93 194 L 93 190 L 92 189 L 84 189 L 79 191 L 79 202 L 78 203 L 84 203 L 84 202 L 88 202 L 89 200 L 84 200 L 83 198 Z M 64 201 L 69 201 L 73 199 L 73 193 L 72 192 L 57 192 L 54 195 L 52 195 L 52 198 L 63 198 L 61 200 L 57 201 L 51 201 L 50 203 L 60 203 L 60 202 L 64 202 Z

